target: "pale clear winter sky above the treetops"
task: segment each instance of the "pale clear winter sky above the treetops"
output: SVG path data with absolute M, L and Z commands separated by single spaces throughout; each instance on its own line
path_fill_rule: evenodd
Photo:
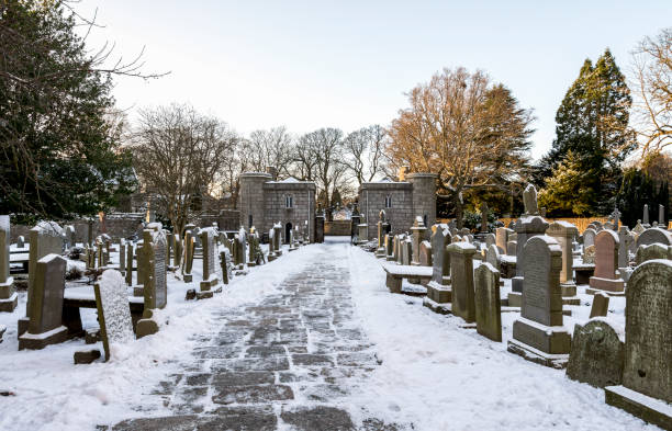
M 104 29 L 89 37 L 145 71 L 121 79 L 120 107 L 188 102 L 242 134 L 285 125 L 350 132 L 388 125 L 407 92 L 444 67 L 483 69 L 534 107 L 533 156 L 586 57 L 608 46 L 626 71 L 643 36 L 672 25 L 672 1 L 82 0 Z

